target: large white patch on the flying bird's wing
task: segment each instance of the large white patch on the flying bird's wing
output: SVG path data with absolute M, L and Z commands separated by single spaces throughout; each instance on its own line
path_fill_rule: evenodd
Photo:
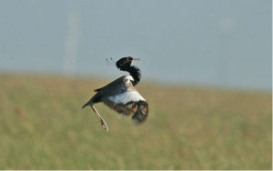
M 126 104 L 131 101 L 137 102 L 139 100 L 146 101 L 145 98 L 143 98 L 143 96 L 141 96 L 137 91 L 126 91 L 120 95 L 109 96 L 108 99 L 116 104 Z

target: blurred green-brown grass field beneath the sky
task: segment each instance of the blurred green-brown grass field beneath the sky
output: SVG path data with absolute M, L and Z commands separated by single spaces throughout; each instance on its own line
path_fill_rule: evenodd
M 135 126 L 96 105 L 108 81 L 0 75 L 0 169 L 271 169 L 271 95 L 141 83 Z

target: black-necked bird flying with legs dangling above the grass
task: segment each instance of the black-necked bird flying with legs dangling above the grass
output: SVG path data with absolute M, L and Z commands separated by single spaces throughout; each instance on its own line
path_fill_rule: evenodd
M 139 58 L 127 56 L 116 61 L 116 67 L 120 71 L 128 72 L 129 75 L 123 75 L 108 85 L 97 88 L 94 90 L 96 94 L 82 106 L 82 108 L 91 106 L 106 131 L 109 130 L 108 126 L 94 106 L 97 103 L 104 103 L 124 116 L 134 114 L 132 119 L 136 124 L 143 123 L 147 119 L 149 111 L 147 100 L 137 92 L 135 87 L 140 82 L 141 71 L 136 65 L 132 65 L 133 62 L 139 60 Z

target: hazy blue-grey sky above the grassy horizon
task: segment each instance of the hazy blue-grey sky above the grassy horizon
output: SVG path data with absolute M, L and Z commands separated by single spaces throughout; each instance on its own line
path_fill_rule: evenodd
M 2 72 L 121 75 L 132 55 L 144 80 L 271 90 L 271 1 L 1 1 Z

